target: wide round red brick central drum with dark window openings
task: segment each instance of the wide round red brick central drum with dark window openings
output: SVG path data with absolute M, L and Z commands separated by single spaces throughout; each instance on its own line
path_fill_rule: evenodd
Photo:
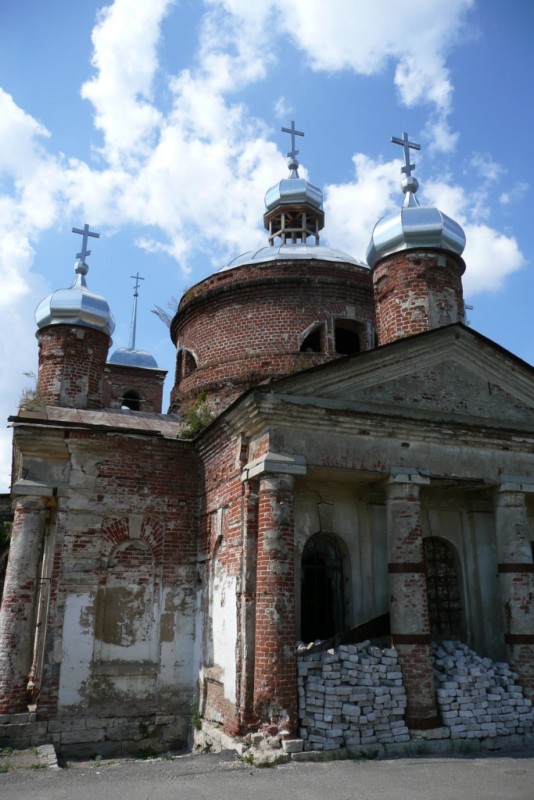
M 360 322 L 361 349 L 374 346 L 372 286 L 364 267 L 276 262 L 212 275 L 184 295 L 173 320 L 172 339 L 193 354 L 197 368 L 188 372 L 180 359 L 171 407 L 207 392 L 221 411 L 249 386 L 335 358 L 337 318 Z M 326 324 L 325 352 L 301 353 L 302 334 L 315 322 Z

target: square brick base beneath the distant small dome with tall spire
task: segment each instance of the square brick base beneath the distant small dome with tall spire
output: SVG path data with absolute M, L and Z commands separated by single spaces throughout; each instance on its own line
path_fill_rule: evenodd
M 104 372 L 104 407 L 120 408 L 125 392 L 133 390 L 140 396 L 139 411 L 161 414 L 163 382 L 167 373 L 162 369 L 125 367 L 106 364 Z

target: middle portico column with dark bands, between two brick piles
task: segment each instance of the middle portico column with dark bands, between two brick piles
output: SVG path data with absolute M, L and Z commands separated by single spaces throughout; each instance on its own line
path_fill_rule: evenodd
M 439 727 L 417 473 L 392 477 L 386 490 L 391 638 L 399 654 L 407 695 L 406 724 Z

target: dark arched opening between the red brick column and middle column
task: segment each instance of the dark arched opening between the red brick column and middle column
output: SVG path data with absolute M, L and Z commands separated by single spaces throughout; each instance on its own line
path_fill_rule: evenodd
M 302 552 L 301 639 L 329 639 L 344 628 L 341 548 L 335 537 L 316 533 Z

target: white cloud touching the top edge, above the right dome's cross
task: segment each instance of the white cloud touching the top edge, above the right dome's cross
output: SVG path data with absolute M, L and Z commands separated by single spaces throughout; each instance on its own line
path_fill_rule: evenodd
M 446 59 L 459 41 L 474 0 L 210 0 L 231 13 L 237 25 L 289 36 L 314 70 L 352 70 L 375 75 L 389 65 L 401 102 L 432 109 L 426 134 L 433 149 L 450 152 L 456 143 L 448 125 L 453 86 Z

